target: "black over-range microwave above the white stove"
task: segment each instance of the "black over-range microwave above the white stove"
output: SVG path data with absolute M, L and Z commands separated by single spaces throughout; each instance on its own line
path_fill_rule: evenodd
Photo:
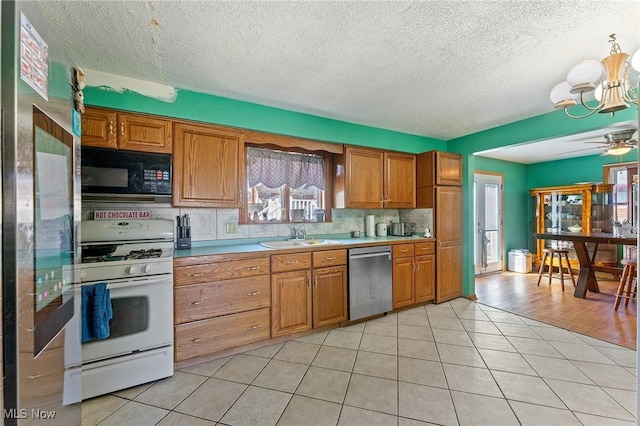
M 171 195 L 171 154 L 82 147 L 83 195 Z

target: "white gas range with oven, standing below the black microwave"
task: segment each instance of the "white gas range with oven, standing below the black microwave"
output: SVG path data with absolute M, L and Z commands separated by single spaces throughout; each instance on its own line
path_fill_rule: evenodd
M 80 247 L 77 312 L 101 283 L 113 312 L 108 337 L 82 344 L 82 399 L 173 375 L 173 221 L 83 221 Z

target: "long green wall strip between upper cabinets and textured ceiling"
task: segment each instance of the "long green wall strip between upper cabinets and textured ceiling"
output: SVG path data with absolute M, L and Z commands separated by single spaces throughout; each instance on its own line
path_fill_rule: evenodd
M 174 102 L 164 102 L 129 90 L 119 93 L 104 87 L 86 87 L 84 96 L 87 105 L 327 142 L 363 145 L 413 154 L 432 149 L 441 151 L 447 149 L 446 142 L 439 139 L 347 123 L 188 90 L 178 90 L 178 96 Z

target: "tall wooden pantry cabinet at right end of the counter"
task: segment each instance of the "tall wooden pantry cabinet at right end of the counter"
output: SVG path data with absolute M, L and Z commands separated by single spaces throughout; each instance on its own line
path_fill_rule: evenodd
M 433 209 L 436 303 L 462 296 L 462 156 L 428 151 L 417 161 L 417 207 Z

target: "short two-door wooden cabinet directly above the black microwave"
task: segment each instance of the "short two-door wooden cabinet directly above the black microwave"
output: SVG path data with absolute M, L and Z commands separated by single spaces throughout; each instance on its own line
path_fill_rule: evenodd
M 87 107 L 82 114 L 82 144 L 130 151 L 172 151 L 171 121 Z

